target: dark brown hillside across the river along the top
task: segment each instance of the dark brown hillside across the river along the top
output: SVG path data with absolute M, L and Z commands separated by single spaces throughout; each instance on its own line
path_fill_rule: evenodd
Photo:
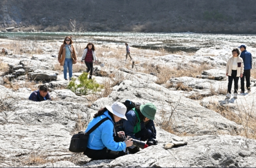
M 254 0 L 1 0 L 0 28 L 256 33 Z

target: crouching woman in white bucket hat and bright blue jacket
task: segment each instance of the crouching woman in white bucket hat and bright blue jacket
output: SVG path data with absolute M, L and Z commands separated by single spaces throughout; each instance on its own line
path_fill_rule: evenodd
M 114 102 L 111 106 L 106 106 L 94 114 L 93 120 L 90 121 L 85 132 L 90 130 L 103 118 L 108 117 L 109 120 L 103 122 L 89 134 L 87 149 L 84 155 L 91 159 L 102 160 L 116 159 L 127 154 L 125 151 L 127 147 L 132 146 L 132 138 L 124 142 L 114 141 L 114 136 L 116 135 L 114 123 L 122 118 L 127 120 L 125 117 L 126 110 L 127 108 L 123 103 Z M 124 134 L 124 132 L 120 133 Z

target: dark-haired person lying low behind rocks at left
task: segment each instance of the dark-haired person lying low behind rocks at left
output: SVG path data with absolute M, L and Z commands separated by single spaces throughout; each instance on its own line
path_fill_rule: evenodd
M 51 100 L 49 89 L 46 85 L 41 85 L 39 90 L 35 90 L 30 94 L 29 99 L 35 102 L 41 102 L 44 100 Z

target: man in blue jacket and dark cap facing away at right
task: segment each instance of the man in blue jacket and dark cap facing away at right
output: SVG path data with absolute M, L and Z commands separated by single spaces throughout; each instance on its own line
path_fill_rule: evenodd
M 242 44 L 239 46 L 241 51 L 240 57 L 244 60 L 244 74 L 240 78 L 241 79 L 241 93 L 244 93 L 244 78 L 246 79 L 246 88 L 247 91 L 251 91 L 250 87 L 250 77 L 251 77 L 251 70 L 252 70 L 252 54 L 249 51 L 246 51 L 246 46 L 245 44 Z

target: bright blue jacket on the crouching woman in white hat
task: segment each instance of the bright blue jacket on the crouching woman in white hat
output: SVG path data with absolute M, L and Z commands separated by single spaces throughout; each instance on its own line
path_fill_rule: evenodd
M 114 122 L 108 114 L 108 110 L 106 110 L 101 116 L 93 118 L 93 120 L 88 124 L 85 132 L 89 131 L 95 124 L 106 117 L 110 120 L 106 120 L 92 133 L 90 133 L 87 147 L 95 150 L 101 150 L 107 147 L 111 151 L 124 151 L 126 148 L 125 143 L 114 141 Z

